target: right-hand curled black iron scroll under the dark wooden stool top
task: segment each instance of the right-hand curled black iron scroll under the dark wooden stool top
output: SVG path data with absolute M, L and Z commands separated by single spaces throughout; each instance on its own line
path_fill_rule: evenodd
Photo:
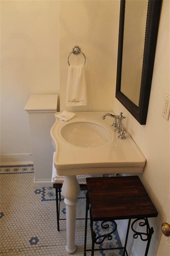
M 141 220 L 143 220 L 143 221 L 141 221 Z M 144 232 L 139 232 L 139 231 L 136 231 L 136 230 L 134 230 L 134 228 L 133 228 L 133 225 L 137 222 L 137 221 L 140 221 L 139 223 L 138 223 L 138 225 L 140 226 L 140 227 L 144 227 L 144 226 L 146 226 L 146 233 L 144 233 Z M 142 241 L 148 241 L 149 240 L 149 238 L 150 238 L 150 236 L 153 234 L 153 227 L 149 227 L 149 223 L 148 223 L 148 219 L 147 218 L 143 218 L 143 219 L 136 219 L 136 220 L 134 220 L 133 222 L 132 222 L 132 224 L 131 224 L 131 229 L 133 230 L 133 232 L 134 232 L 134 234 L 133 234 L 133 238 L 138 238 L 138 236 L 140 236 L 140 239 L 142 240 Z M 145 236 L 146 238 L 144 238 L 143 236 Z

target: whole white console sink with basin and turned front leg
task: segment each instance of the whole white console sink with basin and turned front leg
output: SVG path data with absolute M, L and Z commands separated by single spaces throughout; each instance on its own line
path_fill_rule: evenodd
M 75 246 L 76 204 L 80 186 L 76 175 L 104 173 L 140 173 L 145 157 L 126 134 L 118 139 L 111 127 L 112 119 L 101 119 L 105 112 L 77 112 L 70 121 L 56 119 L 51 137 L 56 155 L 54 165 L 57 174 L 66 176 L 62 194 L 66 203 L 67 245 L 73 253 Z

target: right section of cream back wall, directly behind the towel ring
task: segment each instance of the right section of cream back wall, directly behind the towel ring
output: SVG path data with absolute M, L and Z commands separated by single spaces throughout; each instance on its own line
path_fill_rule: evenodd
M 119 1 L 60 1 L 61 110 L 111 110 L 116 76 Z M 67 57 L 74 45 L 86 56 L 87 106 L 66 108 Z M 71 64 L 84 63 L 70 56 Z

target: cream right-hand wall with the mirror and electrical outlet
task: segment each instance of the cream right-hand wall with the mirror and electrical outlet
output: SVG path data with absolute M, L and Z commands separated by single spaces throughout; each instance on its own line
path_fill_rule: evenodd
M 170 223 L 170 122 L 161 116 L 164 94 L 170 94 L 169 5 L 169 1 L 163 1 L 146 125 L 140 125 L 116 98 L 113 106 L 116 114 L 122 111 L 127 117 L 123 124 L 147 161 L 141 179 L 159 212 L 158 218 L 153 218 L 150 221 L 154 227 L 149 250 L 150 256 L 168 256 L 167 252 L 170 249 L 163 237 L 157 252 L 162 236 L 161 223 L 163 221 Z M 140 239 L 134 241 L 134 248 L 138 252 L 137 256 L 143 255 L 144 248 L 142 247 Z

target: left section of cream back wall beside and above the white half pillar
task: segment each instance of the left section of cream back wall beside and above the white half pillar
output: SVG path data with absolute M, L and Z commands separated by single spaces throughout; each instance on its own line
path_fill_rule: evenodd
M 59 92 L 58 1 L 1 1 L 1 160 L 31 161 L 24 106 Z

